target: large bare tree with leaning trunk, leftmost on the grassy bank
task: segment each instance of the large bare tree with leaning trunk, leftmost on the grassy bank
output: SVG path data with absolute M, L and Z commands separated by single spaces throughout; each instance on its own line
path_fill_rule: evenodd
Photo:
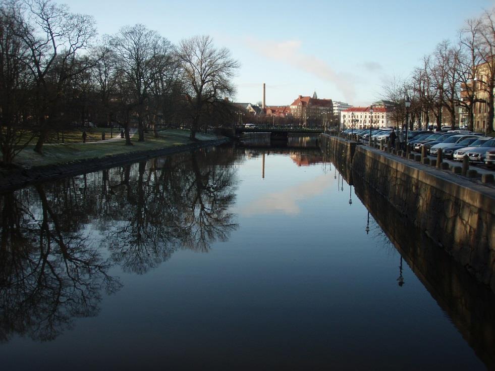
M 57 117 L 57 103 L 64 83 L 89 69 L 77 63 L 77 54 L 96 34 L 94 20 L 88 15 L 70 13 L 64 5 L 50 0 L 29 0 L 25 12 L 17 14 L 18 36 L 29 50 L 28 68 L 34 82 L 35 111 L 39 137 L 34 150 L 43 144 Z

